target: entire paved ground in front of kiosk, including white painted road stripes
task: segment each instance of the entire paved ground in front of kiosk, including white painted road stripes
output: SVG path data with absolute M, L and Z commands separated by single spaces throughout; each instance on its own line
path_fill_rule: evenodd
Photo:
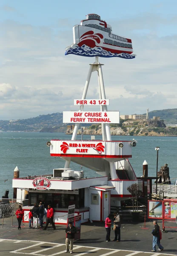
M 65 228 L 66 225 L 56 226 L 52 230 L 51 225 L 48 230 L 29 229 L 27 224 L 23 224 L 21 230 L 17 230 L 17 220 L 14 217 L 13 226 L 11 219 L 5 219 L 3 228 L 0 219 L 0 256 L 20 255 L 69 255 L 65 251 Z M 162 226 L 162 224 L 160 224 Z M 165 247 L 163 252 L 151 253 L 153 229 L 152 222 L 148 222 L 142 229 L 143 223 L 126 223 L 121 227 L 120 242 L 106 242 L 106 230 L 104 224 L 92 223 L 81 226 L 81 239 L 74 242 L 74 256 L 82 256 L 89 253 L 89 256 L 162 256 L 177 255 L 177 231 L 166 228 L 167 233 L 163 233 L 161 244 Z M 114 231 L 111 230 L 111 239 L 114 239 Z

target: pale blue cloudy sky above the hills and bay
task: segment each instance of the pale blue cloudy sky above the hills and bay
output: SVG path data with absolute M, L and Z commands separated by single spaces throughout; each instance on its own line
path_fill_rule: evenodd
M 96 13 L 131 38 L 136 58 L 99 58 L 108 111 L 143 114 L 177 108 L 176 0 L 1 0 L 0 120 L 77 111 L 94 58 L 67 55 L 72 27 Z M 99 99 L 94 72 L 87 99 Z M 84 111 L 99 111 L 93 106 Z

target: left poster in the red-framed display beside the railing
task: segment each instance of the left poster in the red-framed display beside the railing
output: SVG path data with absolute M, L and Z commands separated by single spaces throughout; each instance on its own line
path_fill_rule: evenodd
M 148 218 L 163 218 L 163 201 L 148 201 Z

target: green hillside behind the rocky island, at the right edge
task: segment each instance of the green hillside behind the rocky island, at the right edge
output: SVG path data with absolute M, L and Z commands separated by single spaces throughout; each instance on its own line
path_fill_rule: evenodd
M 153 116 L 160 116 L 160 119 L 164 120 L 166 125 L 177 124 L 177 108 L 149 112 L 149 118 L 153 118 Z

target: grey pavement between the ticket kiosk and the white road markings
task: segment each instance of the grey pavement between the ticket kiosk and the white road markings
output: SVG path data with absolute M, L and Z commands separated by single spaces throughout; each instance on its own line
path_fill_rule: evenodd
M 11 218 L 4 219 L 2 228 L 2 219 L 0 219 L 0 239 L 17 239 L 17 240 L 33 240 L 46 241 L 54 243 L 65 243 L 66 225 L 56 225 L 56 230 L 52 230 L 49 225 L 48 230 L 29 229 L 28 224 L 23 224 L 21 230 L 17 230 L 17 219 L 14 216 L 13 226 L 11 226 Z M 160 227 L 162 223 L 159 222 Z M 175 224 L 174 224 L 175 225 Z M 124 223 L 121 226 L 121 241 L 106 242 L 106 230 L 104 223 L 87 223 L 81 226 L 81 239 L 74 241 L 75 245 L 92 246 L 101 248 L 111 248 L 119 250 L 136 250 L 150 252 L 152 250 L 151 230 L 153 223 L 147 222 L 146 227 L 142 229 L 144 223 Z M 162 253 L 177 255 L 177 230 L 166 228 L 166 233 L 162 234 L 161 244 L 165 248 Z M 114 231 L 111 230 L 111 240 L 114 239 Z M 1 242 L 1 244 L 3 241 Z M 157 248 L 158 249 L 158 248 Z

